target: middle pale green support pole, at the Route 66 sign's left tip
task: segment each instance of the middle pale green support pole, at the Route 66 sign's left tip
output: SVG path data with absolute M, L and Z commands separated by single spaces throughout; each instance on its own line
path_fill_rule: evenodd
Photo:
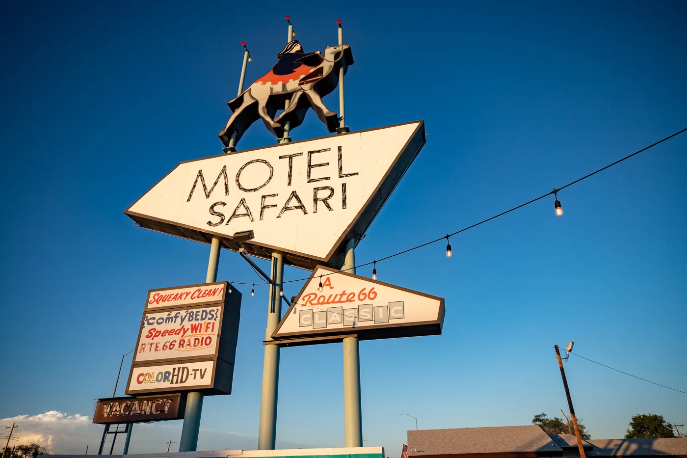
M 271 279 L 269 287 L 269 307 L 267 308 L 267 329 L 264 340 L 273 340 L 272 333 L 282 318 L 282 281 L 284 280 L 284 258 L 282 254 L 272 253 Z M 264 346 L 262 365 L 262 397 L 260 398 L 260 428 L 258 430 L 258 450 L 274 450 L 277 435 L 277 396 L 279 389 L 279 345 Z

